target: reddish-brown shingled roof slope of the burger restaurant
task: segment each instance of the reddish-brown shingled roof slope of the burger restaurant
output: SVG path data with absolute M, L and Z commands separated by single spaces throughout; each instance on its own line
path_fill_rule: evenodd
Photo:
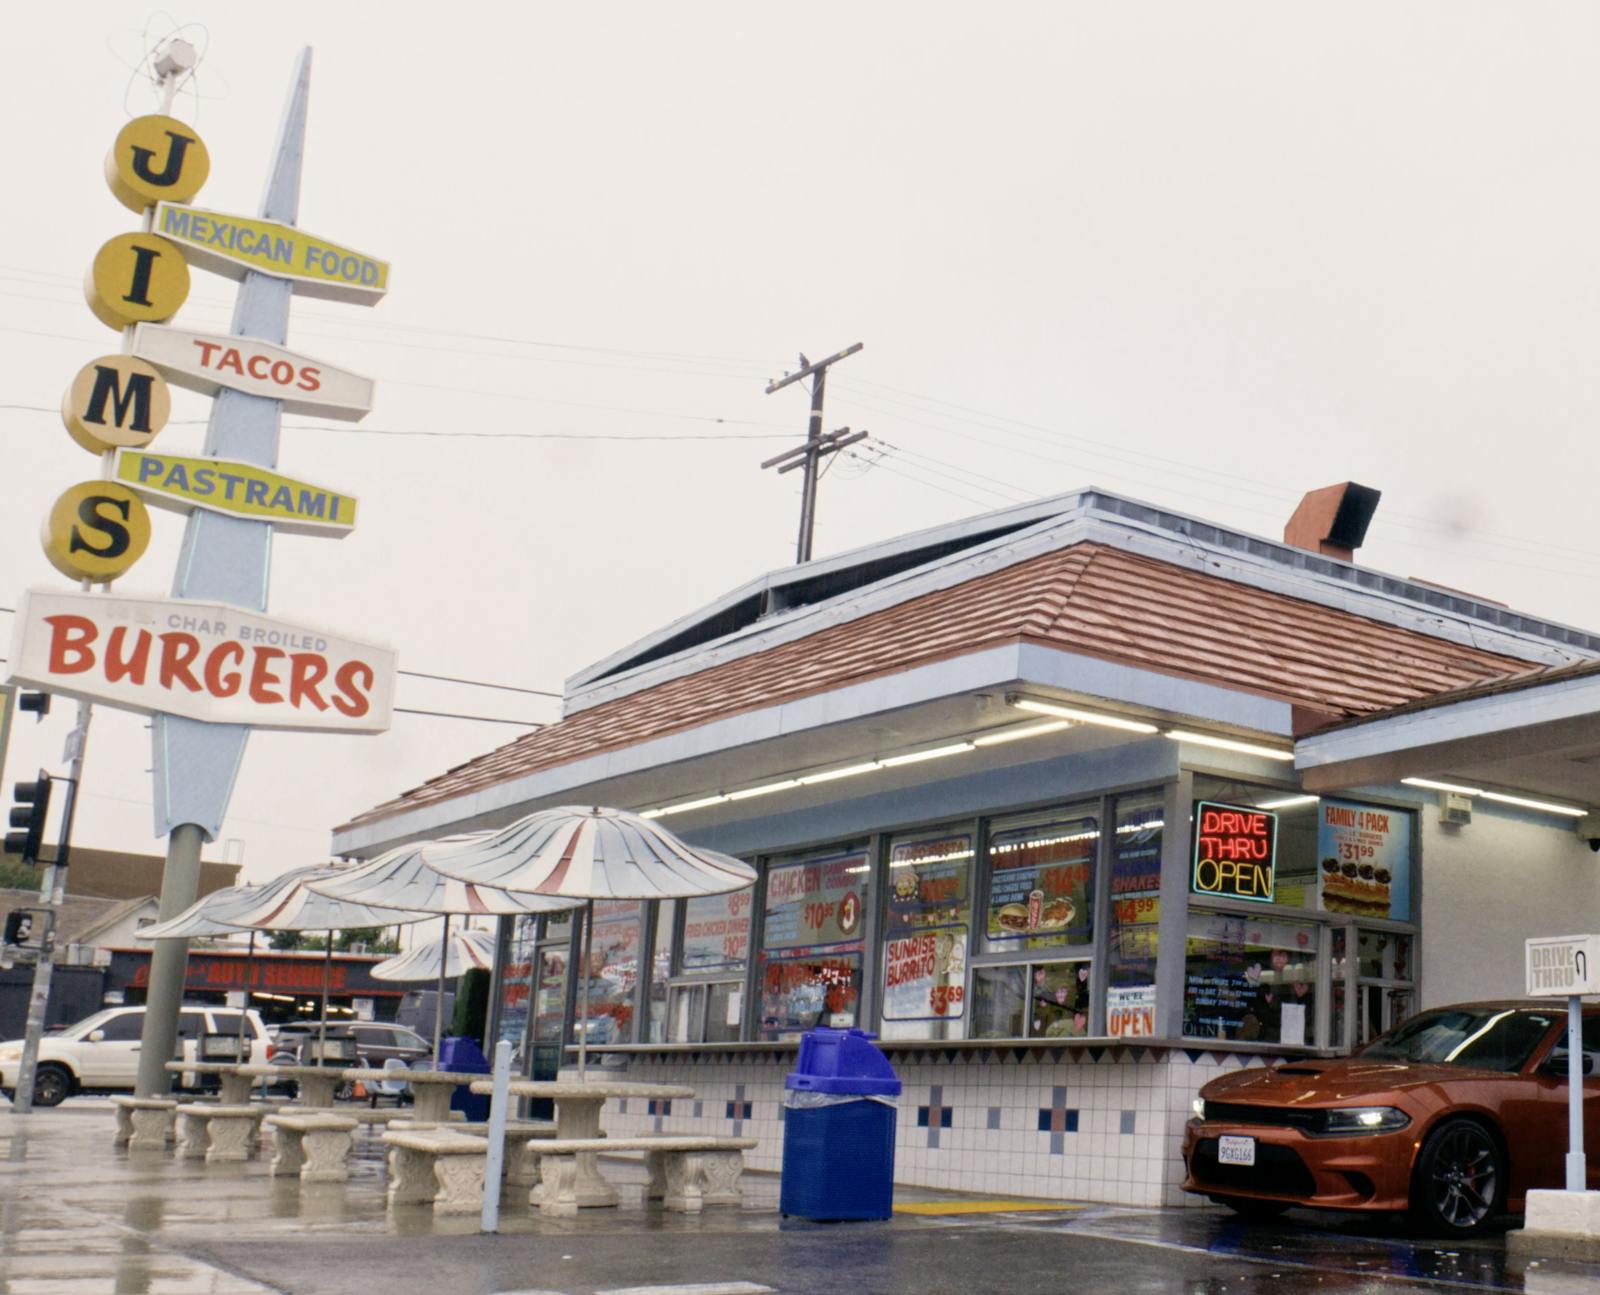
M 579 711 L 344 826 L 1008 642 L 1258 693 L 1330 724 L 1528 668 L 1512 656 L 1083 543 Z

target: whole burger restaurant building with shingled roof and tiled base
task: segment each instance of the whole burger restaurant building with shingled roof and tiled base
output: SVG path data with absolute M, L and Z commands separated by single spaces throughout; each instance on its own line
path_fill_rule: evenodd
M 1275 541 L 1085 490 L 774 571 L 334 850 L 659 816 L 760 879 L 597 906 L 590 1047 L 696 1092 L 608 1129 L 776 1167 L 795 1039 L 853 1024 L 906 1084 L 901 1181 L 1176 1204 L 1211 1076 L 1600 928 L 1600 635 L 1358 567 L 1374 504 L 1314 491 Z M 571 933 L 502 922 L 528 1072 L 574 1039 Z

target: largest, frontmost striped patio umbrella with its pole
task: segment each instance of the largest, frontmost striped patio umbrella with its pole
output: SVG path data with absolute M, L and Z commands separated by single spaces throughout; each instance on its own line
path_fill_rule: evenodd
M 584 900 L 582 1000 L 578 1074 L 589 1060 L 589 946 L 595 900 L 686 900 L 742 890 L 755 869 L 731 855 L 698 850 L 637 813 L 565 805 L 539 810 L 470 840 L 422 847 L 435 872 L 474 885 Z

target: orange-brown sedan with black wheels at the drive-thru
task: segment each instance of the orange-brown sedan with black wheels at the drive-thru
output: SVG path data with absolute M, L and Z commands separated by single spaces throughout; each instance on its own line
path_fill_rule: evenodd
M 1184 1133 L 1184 1189 L 1246 1215 L 1400 1210 L 1466 1236 L 1565 1183 L 1565 1004 L 1411 1016 L 1339 1061 L 1213 1079 Z M 1600 1008 L 1582 1020 L 1589 1188 L 1600 1188 Z

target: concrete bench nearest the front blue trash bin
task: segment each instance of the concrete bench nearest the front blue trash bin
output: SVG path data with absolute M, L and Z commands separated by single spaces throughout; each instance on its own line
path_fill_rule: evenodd
M 646 1201 L 659 1199 L 680 1213 L 699 1213 L 707 1205 L 739 1205 L 744 1201 L 739 1189 L 744 1153 L 752 1146 L 755 1138 L 550 1138 L 538 1145 L 541 1181 L 528 1199 L 541 1213 L 574 1215 L 579 1156 L 643 1151 L 650 1170 Z

